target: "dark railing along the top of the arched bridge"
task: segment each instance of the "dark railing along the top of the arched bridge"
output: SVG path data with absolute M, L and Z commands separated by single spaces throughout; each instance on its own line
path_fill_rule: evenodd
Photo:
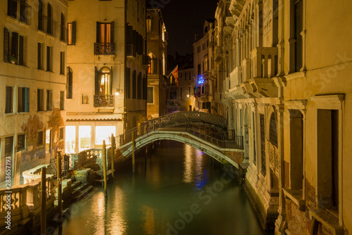
M 187 132 L 221 148 L 244 148 L 243 136 L 236 136 L 234 130 L 228 131 L 217 125 L 209 124 L 209 122 L 199 121 L 201 118 L 189 118 L 189 115 L 182 115 L 182 113 L 195 113 L 199 115 L 199 112 L 180 112 L 180 115 L 166 115 L 161 118 L 149 120 L 143 125 L 134 127 L 124 134 L 117 136 L 115 144 L 119 147 L 130 143 L 132 141 L 132 133 L 134 133 L 134 138 L 137 139 L 150 132 L 167 130 Z

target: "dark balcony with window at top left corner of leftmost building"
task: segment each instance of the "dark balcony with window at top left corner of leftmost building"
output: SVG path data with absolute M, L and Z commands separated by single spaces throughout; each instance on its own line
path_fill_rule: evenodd
M 32 18 L 32 7 L 26 4 L 25 1 L 9 0 L 7 9 L 7 15 L 12 18 L 19 19 L 20 22 L 30 25 Z

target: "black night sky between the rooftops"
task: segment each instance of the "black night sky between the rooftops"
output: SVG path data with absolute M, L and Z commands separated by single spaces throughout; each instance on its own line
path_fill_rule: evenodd
M 204 21 L 215 18 L 218 0 L 155 1 L 164 2 L 161 11 L 168 32 L 168 54 L 175 55 L 176 51 L 180 55 L 192 53 L 194 33 L 199 33 L 199 39 L 203 36 Z

